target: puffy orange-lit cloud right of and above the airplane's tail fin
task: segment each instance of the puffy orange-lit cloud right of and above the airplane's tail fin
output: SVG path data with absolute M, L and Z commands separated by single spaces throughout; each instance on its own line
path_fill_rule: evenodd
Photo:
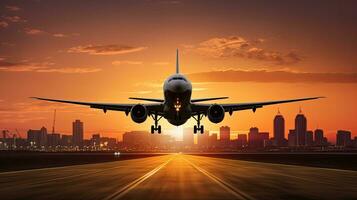
M 271 51 L 258 47 L 265 39 L 247 40 L 239 36 L 214 37 L 198 45 L 184 45 L 201 55 L 214 58 L 240 57 L 252 60 L 269 61 L 278 65 L 295 64 L 302 57 L 294 50 L 288 52 Z

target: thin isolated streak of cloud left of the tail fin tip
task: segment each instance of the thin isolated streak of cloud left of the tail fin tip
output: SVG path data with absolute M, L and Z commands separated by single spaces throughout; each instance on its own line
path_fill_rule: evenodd
M 128 45 L 85 45 L 72 47 L 69 53 L 88 53 L 90 55 L 118 55 L 145 50 L 147 47 L 132 47 Z

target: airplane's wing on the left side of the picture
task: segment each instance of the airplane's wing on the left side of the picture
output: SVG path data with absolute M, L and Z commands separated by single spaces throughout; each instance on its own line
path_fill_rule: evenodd
M 40 97 L 30 97 L 30 98 L 43 100 L 43 101 L 52 101 L 52 102 L 59 102 L 59 103 L 84 105 L 84 106 L 89 106 L 91 108 L 101 109 L 104 112 L 107 112 L 107 110 L 123 111 L 123 112 L 125 112 L 126 115 L 128 115 L 130 112 L 130 109 L 136 105 L 136 104 L 116 104 L 116 103 L 68 101 L 68 100 L 47 99 L 47 98 L 40 98 Z M 157 113 L 158 115 L 162 115 L 162 113 L 163 113 L 162 112 L 163 106 L 161 103 L 144 104 L 144 105 L 148 109 L 149 114 Z

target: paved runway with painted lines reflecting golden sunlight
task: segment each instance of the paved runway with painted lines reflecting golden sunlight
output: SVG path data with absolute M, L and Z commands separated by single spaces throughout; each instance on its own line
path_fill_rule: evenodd
M 0 173 L 0 199 L 356 199 L 357 172 L 172 154 Z

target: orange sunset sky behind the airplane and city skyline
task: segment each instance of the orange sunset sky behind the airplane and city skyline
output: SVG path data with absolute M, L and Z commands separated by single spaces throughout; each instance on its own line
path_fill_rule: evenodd
M 301 107 L 308 129 L 357 135 L 356 1 L 0 1 L 0 129 L 71 133 L 84 121 L 93 133 L 121 138 L 148 130 L 121 112 L 40 102 L 39 96 L 132 103 L 162 98 L 175 72 L 193 82 L 193 97 L 229 96 L 220 102 L 254 102 L 310 96 L 327 98 L 228 114 L 222 123 L 245 133 L 269 131 L 278 109 L 293 129 Z M 161 120 L 164 131 L 176 127 Z M 185 125 L 193 127 L 192 119 Z M 182 128 L 182 127 L 181 127 Z M 180 129 L 181 129 L 180 128 Z M 175 135 L 177 136 L 177 135 Z

